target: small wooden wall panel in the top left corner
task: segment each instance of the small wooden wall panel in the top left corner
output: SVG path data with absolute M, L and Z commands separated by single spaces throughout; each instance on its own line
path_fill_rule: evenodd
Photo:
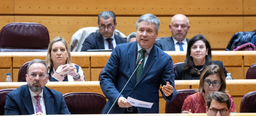
M 14 0 L 0 0 L 0 14 L 14 14 Z

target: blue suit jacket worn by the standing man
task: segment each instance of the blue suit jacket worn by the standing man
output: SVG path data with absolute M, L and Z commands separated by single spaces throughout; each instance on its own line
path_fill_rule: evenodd
M 120 44 L 116 46 L 112 52 L 108 62 L 101 74 L 100 87 L 108 98 L 108 102 L 104 107 L 102 114 L 106 114 L 122 88 L 134 72 L 136 68 L 137 57 L 137 42 Z M 174 71 L 172 58 L 160 50 L 155 45 L 153 46 L 148 60 L 144 65 L 140 79 L 136 82 L 136 73 L 128 82 L 121 96 L 128 96 L 137 100 L 154 103 L 152 108 L 138 107 L 138 113 L 159 113 L 159 88 L 160 84 L 170 85 L 174 87 Z M 162 92 L 162 90 L 161 90 Z M 177 92 L 174 88 L 172 98 L 169 100 L 162 92 L 164 99 L 168 102 L 176 98 Z M 121 97 L 120 96 L 120 97 Z M 114 106 L 110 114 L 122 114 L 125 108 Z

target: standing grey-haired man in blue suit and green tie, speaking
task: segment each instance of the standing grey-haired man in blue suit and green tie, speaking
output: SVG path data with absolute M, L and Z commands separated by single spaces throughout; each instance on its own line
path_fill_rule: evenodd
M 108 98 L 102 114 L 106 114 L 122 88 L 142 60 L 136 74 L 128 82 L 110 114 L 159 113 L 159 88 L 163 98 L 170 102 L 176 98 L 172 58 L 154 45 L 160 26 L 153 14 L 140 16 L 136 22 L 136 41 L 116 46 L 100 75 L 100 87 Z M 152 108 L 132 107 L 127 98 L 154 103 Z M 118 106 L 116 106 L 118 105 Z

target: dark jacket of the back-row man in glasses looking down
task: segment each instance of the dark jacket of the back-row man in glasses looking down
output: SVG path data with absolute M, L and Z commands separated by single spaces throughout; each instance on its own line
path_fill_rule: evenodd
M 125 38 L 121 38 L 120 36 L 114 35 L 116 40 L 116 45 L 126 43 L 127 40 Z M 84 43 L 82 44 L 81 52 L 86 52 L 87 50 L 100 50 L 105 49 L 104 40 L 100 32 L 95 32 L 94 34 L 88 36 Z

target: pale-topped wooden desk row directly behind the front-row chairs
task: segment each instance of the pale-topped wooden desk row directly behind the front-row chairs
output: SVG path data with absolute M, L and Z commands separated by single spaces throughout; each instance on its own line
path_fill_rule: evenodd
M 256 80 L 227 80 L 227 90 L 234 98 L 236 112 L 240 111 L 240 102 L 242 97 L 252 91 L 256 91 Z M 0 89 L 5 88 L 18 88 L 21 85 L 26 84 L 26 82 L 0 82 Z M 62 94 L 66 94 L 69 92 L 96 92 L 99 94 L 103 94 L 99 81 L 87 81 L 87 82 L 48 82 L 46 84 L 47 87 L 62 92 Z M 175 80 L 175 88 L 176 90 L 181 89 L 198 89 L 199 80 Z M 165 111 L 165 100 L 162 97 L 162 94 L 159 93 L 160 96 L 160 113 L 164 113 Z M 107 99 L 107 98 L 106 98 Z

